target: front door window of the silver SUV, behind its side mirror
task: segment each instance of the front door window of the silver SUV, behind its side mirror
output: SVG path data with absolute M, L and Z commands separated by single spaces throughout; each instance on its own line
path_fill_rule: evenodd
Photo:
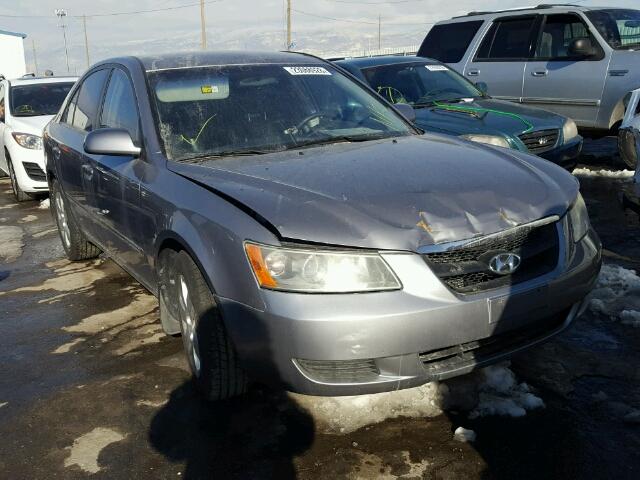
M 588 38 L 594 47 L 598 44 L 587 26 L 576 15 L 549 15 L 536 46 L 538 60 L 564 60 L 571 58 L 569 47 L 575 40 Z

